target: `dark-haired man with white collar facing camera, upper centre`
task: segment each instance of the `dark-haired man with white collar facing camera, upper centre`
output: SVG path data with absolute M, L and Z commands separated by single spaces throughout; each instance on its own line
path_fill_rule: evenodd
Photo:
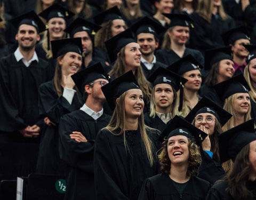
M 137 36 L 137 42 L 140 45 L 142 54 L 140 65 L 146 78 L 148 78 L 158 67 L 161 66 L 166 68 L 167 66 L 164 63 L 156 61 L 154 55 L 155 50 L 158 47 L 157 35 L 165 31 L 165 28 L 158 22 L 148 17 L 144 17 L 134 23 L 131 29 Z

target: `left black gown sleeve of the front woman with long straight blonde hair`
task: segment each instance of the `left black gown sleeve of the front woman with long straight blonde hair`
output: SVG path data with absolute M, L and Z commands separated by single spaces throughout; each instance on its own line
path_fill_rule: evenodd
M 129 200 L 118 184 L 118 163 L 110 148 L 108 131 L 100 131 L 94 149 L 94 178 L 97 199 Z M 124 183 L 123 183 L 124 184 Z M 127 186 L 129 187 L 129 186 Z

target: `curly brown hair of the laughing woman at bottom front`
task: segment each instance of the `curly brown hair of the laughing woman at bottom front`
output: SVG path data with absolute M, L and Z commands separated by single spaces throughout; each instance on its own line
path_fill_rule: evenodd
M 159 164 L 161 166 L 162 172 L 170 174 L 171 170 L 171 161 L 167 151 L 168 139 L 165 139 L 163 142 L 163 147 L 159 149 L 160 154 L 158 155 Z M 188 158 L 188 170 L 187 176 L 195 177 L 198 175 L 199 166 L 202 163 L 202 157 L 199 150 L 199 147 L 196 145 L 194 139 L 190 140 L 188 138 L 188 149 L 189 149 L 189 158 Z

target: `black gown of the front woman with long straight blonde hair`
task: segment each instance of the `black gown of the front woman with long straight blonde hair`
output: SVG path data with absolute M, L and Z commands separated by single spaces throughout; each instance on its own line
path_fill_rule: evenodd
M 159 131 L 148 130 L 147 134 L 158 150 L 162 146 L 157 141 Z M 137 200 L 143 181 L 158 173 L 158 163 L 150 166 L 148 162 L 139 130 L 126 131 L 125 137 L 126 146 L 123 134 L 114 135 L 107 130 L 98 134 L 94 150 L 97 199 Z

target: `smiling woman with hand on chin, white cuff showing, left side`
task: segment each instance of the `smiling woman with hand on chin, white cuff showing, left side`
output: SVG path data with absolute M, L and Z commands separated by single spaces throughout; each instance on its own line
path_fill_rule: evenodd
M 45 128 L 39 146 L 37 173 L 64 174 L 58 150 L 58 124 L 62 115 L 83 105 L 71 78 L 82 65 L 82 43 L 81 38 L 72 38 L 52 41 L 51 44 L 57 63 L 53 80 L 39 87 L 39 111 L 44 116 Z

